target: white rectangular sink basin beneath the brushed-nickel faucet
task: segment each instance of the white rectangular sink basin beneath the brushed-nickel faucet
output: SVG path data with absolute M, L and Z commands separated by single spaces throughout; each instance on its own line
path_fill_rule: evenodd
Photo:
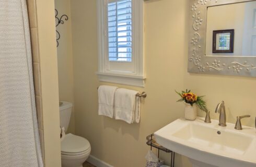
M 194 166 L 256 166 L 255 128 L 234 127 L 230 123 L 221 127 L 217 120 L 206 124 L 202 117 L 195 121 L 179 118 L 158 130 L 155 137 L 160 145 L 189 157 Z

